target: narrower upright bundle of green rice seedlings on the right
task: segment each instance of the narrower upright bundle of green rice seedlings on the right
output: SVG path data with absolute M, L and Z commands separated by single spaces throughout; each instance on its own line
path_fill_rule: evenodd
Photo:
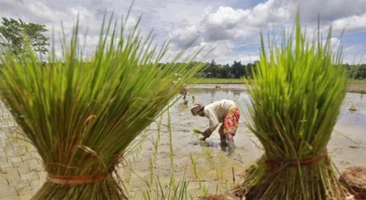
M 327 153 L 346 95 L 341 48 L 331 45 L 331 27 L 312 41 L 296 17 L 295 37 L 280 45 L 261 35 L 260 61 L 249 86 L 250 130 L 264 155 L 247 169 L 236 194 L 246 199 L 344 199 Z M 270 39 L 268 39 L 270 40 Z

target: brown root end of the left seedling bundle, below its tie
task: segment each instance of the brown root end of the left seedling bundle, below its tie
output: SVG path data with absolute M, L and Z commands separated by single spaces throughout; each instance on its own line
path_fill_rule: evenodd
M 126 200 L 119 181 L 108 176 L 90 184 L 56 184 L 46 181 L 32 199 L 120 199 Z

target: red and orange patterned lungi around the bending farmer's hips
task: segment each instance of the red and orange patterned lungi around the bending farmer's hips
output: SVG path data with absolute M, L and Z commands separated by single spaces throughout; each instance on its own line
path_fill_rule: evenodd
M 232 136 L 235 135 L 236 129 L 239 127 L 240 112 L 238 107 L 232 108 L 226 115 L 223 124 L 219 129 L 220 135 L 226 135 L 230 133 Z

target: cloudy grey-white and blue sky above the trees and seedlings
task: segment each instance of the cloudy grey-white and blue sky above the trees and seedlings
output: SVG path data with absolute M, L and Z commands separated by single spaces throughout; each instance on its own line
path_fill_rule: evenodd
M 131 0 L 0 0 L 0 16 L 45 24 L 70 33 L 79 14 L 81 32 L 87 31 L 87 51 L 97 43 L 104 12 L 126 15 Z M 195 39 L 191 49 L 214 50 L 207 60 L 243 63 L 258 59 L 259 31 L 291 31 L 297 8 L 302 25 L 314 33 L 318 14 L 321 30 L 332 24 L 332 42 L 343 42 L 344 62 L 366 63 L 366 0 L 135 0 L 128 24 L 142 15 L 140 29 L 154 28 L 155 41 L 171 40 L 169 55 Z M 346 32 L 341 38 L 342 30 Z

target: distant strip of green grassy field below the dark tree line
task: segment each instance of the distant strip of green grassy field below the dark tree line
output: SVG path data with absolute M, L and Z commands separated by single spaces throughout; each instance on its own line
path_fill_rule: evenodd
M 243 84 L 243 81 L 242 79 L 230 78 L 197 78 L 192 84 Z M 348 92 L 351 93 L 366 94 L 366 79 L 350 79 L 347 88 Z

